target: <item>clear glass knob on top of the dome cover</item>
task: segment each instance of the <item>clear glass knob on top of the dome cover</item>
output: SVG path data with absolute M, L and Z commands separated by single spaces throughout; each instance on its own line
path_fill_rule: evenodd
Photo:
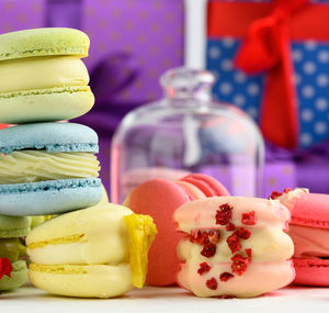
M 203 101 L 212 99 L 214 75 L 208 70 L 177 67 L 167 70 L 160 83 L 168 98 L 194 98 Z

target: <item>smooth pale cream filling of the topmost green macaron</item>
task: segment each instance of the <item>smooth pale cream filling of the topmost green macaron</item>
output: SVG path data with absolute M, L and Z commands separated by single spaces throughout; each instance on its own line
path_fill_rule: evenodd
M 65 86 L 87 86 L 88 70 L 73 56 L 34 57 L 0 63 L 0 93 Z

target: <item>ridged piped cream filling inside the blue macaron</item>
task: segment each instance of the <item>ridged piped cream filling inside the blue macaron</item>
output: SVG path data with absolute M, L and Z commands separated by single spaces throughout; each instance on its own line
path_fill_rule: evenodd
M 99 161 L 91 153 L 21 150 L 0 155 L 0 185 L 99 176 Z

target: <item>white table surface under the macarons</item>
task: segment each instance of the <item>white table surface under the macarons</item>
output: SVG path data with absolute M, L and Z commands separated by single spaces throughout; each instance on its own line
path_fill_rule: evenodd
M 224 311 L 225 310 L 225 311 Z M 0 294 L 0 312 L 50 313 L 247 313 L 329 312 L 329 288 L 285 288 L 253 299 L 202 299 L 180 288 L 133 290 L 116 299 L 75 299 L 47 294 L 32 286 Z M 296 312 L 297 313 L 297 312 Z

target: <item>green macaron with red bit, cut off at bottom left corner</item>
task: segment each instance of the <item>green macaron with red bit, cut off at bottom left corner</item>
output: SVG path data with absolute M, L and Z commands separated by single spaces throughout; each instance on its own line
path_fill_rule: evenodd
M 21 287 L 27 280 L 25 246 L 19 237 L 30 232 L 27 216 L 0 215 L 0 291 Z

